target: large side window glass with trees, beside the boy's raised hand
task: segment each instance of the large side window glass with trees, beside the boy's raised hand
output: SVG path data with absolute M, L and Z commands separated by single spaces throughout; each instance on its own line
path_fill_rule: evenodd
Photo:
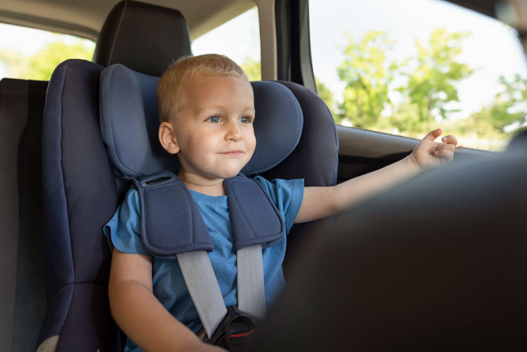
M 421 138 L 435 126 L 503 150 L 526 128 L 517 33 L 436 0 L 309 1 L 318 94 L 338 124 Z

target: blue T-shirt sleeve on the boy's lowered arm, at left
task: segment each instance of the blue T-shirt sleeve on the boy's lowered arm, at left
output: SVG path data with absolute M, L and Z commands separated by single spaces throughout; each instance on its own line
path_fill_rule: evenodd
M 141 212 L 139 211 L 139 194 L 136 189 L 130 189 L 124 201 L 113 217 L 104 225 L 104 235 L 108 239 L 110 248 L 117 248 L 121 252 L 146 255 L 152 257 L 145 250 L 141 240 Z

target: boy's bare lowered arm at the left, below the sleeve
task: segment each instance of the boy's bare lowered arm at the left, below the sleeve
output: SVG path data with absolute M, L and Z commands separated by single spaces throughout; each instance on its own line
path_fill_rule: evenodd
M 201 342 L 159 303 L 152 293 L 152 262 L 144 255 L 114 248 L 108 295 L 117 325 L 147 352 L 225 352 Z

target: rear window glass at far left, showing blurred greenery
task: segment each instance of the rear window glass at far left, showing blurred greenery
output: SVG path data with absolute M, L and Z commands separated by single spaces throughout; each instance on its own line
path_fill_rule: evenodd
M 0 23 L 0 78 L 49 80 L 60 62 L 94 50 L 93 40 Z

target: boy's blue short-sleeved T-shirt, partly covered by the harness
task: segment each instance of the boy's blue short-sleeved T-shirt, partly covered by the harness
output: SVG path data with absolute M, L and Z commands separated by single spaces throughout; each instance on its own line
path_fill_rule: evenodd
M 303 199 L 303 180 L 272 180 L 254 178 L 276 204 L 285 224 L 285 232 L 300 210 Z M 227 196 L 207 196 L 190 191 L 200 209 L 204 223 L 212 238 L 214 250 L 209 253 L 226 307 L 237 304 L 236 252 L 233 246 L 232 225 L 227 206 Z M 154 296 L 180 322 L 198 332 L 202 325 L 192 303 L 183 274 L 176 259 L 152 257 L 141 240 L 141 211 L 137 190 L 130 189 L 124 202 L 117 208 L 113 218 L 104 226 L 110 247 L 115 246 L 124 253 L 146 255 L 152 259 L 152 284 Z M 282 262 L 285 255 L 285 236 L 274 246 L 263 250 L 266 307 L 270 307 L 285 285 Z M 125 351 L 141 351 L 133 342 L 126 342 Z

